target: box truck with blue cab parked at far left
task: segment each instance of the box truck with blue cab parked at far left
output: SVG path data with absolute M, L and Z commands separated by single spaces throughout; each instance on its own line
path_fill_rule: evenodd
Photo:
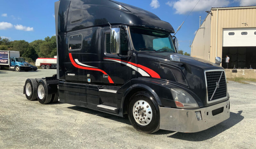
M 23 58 L 20 58 L 19 51 L 0 51 L 0 69 L 4 67 L 18 72 L 30 70 L 30 64 L 25 62 Z

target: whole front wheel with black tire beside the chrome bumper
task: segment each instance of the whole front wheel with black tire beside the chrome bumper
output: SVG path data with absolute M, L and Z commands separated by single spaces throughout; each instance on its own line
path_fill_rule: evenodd
M 155 98 L 146 91 L 139 91 L 130 98 L 128 118 L 132 126 L 150 134 L 159 130 L 159 108 L 154 105 Z

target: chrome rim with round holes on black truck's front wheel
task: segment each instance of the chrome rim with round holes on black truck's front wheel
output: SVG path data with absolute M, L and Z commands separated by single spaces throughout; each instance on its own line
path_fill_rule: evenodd
M 152 109 L 144 100 L 137 101 L 133 105 L 132 112 L 135 121 L 142 126 L 148 125 L 152 120 Z

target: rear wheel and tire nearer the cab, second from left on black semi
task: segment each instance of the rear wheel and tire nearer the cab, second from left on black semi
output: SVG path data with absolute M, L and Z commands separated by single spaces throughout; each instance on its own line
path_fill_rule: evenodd
M 44 81 L 39 81 L 37 84 L 37 99 L 41 104 L 48 104 L 52 99 L 52 94 L 48 94 Z

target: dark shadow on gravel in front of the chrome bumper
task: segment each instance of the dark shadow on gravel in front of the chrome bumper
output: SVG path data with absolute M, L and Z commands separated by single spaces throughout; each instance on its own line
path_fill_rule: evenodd
M 235 124 L 241 122 L 243 120 L 243 116 L 241 115 L 243 111 L 238 111 L 238 113 L 230 112 L 230 118 L 224 122 L 219 123 L 216 126 L 213 126 L 209 129 L 195 132 L 195 133 L 182 133 L 177 132 L 171 136 L 171 138 L 187 140 L 187 141 L 204 141 L 210 139 L 212 137 L 217 136 L 218 134 L 222 133 L 223 131 L 233 127 Z

